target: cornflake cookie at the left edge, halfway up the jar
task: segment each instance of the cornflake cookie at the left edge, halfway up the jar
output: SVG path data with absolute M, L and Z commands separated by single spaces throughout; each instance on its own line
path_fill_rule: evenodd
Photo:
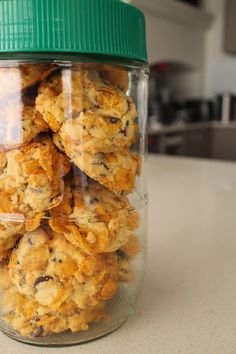
M 0 213 L 24 216 L 28 230 L 37 228 L 44 212 L 60 203 L 69 170 L 67 158 L 46 137 L 0 152 Z

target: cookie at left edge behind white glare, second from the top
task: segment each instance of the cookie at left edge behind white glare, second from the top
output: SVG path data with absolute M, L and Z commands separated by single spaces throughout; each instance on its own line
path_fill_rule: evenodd
M 36 111 L 33 98 L 14 97 L 0 106 L 0 149 L 14 149 L 29 143 L 49 129 Z

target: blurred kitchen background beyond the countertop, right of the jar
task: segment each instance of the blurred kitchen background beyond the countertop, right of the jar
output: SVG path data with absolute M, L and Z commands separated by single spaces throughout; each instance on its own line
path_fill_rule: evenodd
M 147 21 L 149 152 L 236 161 L 236 1 L 127 2 Z

